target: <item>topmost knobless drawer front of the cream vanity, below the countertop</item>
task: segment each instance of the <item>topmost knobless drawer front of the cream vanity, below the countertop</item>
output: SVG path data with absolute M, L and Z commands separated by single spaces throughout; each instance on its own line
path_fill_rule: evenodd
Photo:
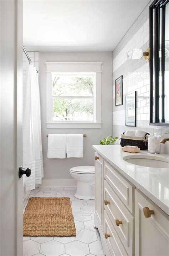
M 123 201 L 126 207 L 134 214 L 134 189 L 135 186 L 127 181 L 117 170 L 106 161 L 104 163 L 104 178 Z

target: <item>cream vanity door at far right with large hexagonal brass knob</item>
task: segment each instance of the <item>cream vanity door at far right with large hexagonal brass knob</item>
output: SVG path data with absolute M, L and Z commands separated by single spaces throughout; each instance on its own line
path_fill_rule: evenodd
M 143 212 L 144 207 L 148 207 Z M 154 214 L 149 214 L 149 210 Z M 135 255 L 169 255 L 169 216 L 135 190 Z

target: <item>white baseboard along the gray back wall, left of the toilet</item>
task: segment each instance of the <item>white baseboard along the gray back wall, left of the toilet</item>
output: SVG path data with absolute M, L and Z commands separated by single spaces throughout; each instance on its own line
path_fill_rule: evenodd
M 45 180 L 42 179 L 42 184 L 39 184 L 40 188 L 76 188 L 77 181 L 71 180 Z

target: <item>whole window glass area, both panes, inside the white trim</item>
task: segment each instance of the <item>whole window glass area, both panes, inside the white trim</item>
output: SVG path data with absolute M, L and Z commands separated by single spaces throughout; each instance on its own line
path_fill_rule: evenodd
M 52 74 L 52 118 L 94 122 L 94 74 Z

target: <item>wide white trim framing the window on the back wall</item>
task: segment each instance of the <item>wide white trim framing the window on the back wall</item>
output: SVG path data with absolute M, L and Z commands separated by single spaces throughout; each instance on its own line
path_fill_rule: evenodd
M 46 128 L 47 129 L 64 129 L 64 128 L 101 128 L 101 65 L 102 62 L 46 62 Z M 77 121 L 62 121 L 52 122 L 52 74 L 53 73 L 68 73 L 73 75 L 73 72 L 81 75 L 81 72 L 86 74 L 94 74 L 95 76 L 95 101 L 94 101 L 94 122 L 77 122 Z

